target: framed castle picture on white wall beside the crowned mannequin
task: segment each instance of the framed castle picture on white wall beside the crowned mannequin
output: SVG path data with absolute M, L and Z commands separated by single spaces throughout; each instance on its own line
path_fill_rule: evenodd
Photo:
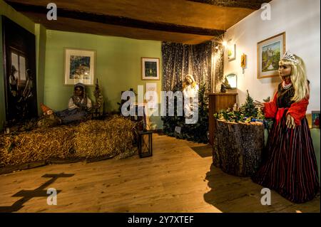
M 258 79 L 278 76 L 279 61 L 285 53 L 285 32 L 258 43 Z

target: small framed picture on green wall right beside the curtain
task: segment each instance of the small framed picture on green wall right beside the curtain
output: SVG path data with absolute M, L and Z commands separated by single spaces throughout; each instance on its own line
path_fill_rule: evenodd
M 159 58 L 141 58 L 142 80 L 159 80 Z

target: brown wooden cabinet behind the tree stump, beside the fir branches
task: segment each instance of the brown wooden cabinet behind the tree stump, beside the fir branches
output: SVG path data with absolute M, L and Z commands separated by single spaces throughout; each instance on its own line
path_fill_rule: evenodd
M 208 93 L 209 106 L 208 106 L 208 131 L 209 142 L 213 145 L 213 134 L 215 133 L 215 112 L 232 108 L 236 102 L 236 95 L 238 93 Z

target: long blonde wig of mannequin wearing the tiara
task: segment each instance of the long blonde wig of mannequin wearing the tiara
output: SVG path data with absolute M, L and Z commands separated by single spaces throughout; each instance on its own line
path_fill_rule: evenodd
M 305 97 L 309 97 L 309 84 L 307 82 L 307 73 L 305 71 L 305 63 L 303 62 L 302 58 L 295 56 L 297 62 L 293 60 L 288 60 L 286 58 L 282 58 L 280 60 L 280 64 L 282 65 L 290 65 L 291 66 L 291 83 L 295 90 L 295 95 L 292 97 L 291 100 L 295 102 L 299 102 L 300 100 L 304 99 Z

